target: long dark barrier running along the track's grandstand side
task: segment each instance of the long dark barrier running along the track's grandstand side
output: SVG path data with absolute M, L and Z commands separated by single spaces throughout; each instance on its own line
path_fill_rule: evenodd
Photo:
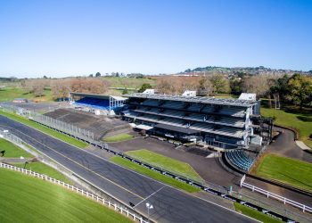
M 33 121 L 36 121 L 36 120 L 33 120 Z M 236 197 L 234 197 L 234 196 L 232 196 L 232 195 L 230 195 L 230 194 L 227 194 L 227 191 L 220 192 L 219 190 L 210 188 L 210 187 L 208 187 L 208 186 L 204 186 L 203 184 L 201 184 L 201 183 L 199 183 L 199 182 L 195 182 L 195 181 L 190 180 L 190 179 L 188 179 L 188 178 L 184 178 L 184 177 L 178 176 L 177 174 L 171 173 L 171 172 L 169 172 L 169 171 L 167 171 L 167 170 L 163 170 L 163 169 L 160 169 L 160 168 L 158 168 L 158 167 L 154 167 L 154 166 L 152 166 L 152 165 L 150 165 L 150 164 L 148 164 L 148 163 L 144 163 L 143 161 L 138 161 L 138 160 L 136 160 L 136 159 L 134 159 L 134 158 L 132 158 L 132 157 L 130 157 L 130 156 L 127 156 L 127 155 L 124 154 L 124 153 L 116 152 L 116 151 L 110 149 L 109 146 L 108 146 L 107 144 L 104 144 L 104 143 L 102 143 L 102 142 L 88 141 L 88 140 L 86 140 L 86 139 L 84 139 L 84 138 L 80 138 L 80 137 L 78 137 L 78 136 L 70 135 L 70 133 L 63 132 L 62 130 L 53 128 L 53 127 L 51 127 L 51 126 L 49 126 L 49 125 L 46 125 L 46 124 L 44 124 L 44 123 L 41 123 L 41 122 L 38 122 L 38 121 L 36 121 L 36 122 L 39 123 L 39 124 L 44 125 L 44 126 L 47 127 L 47 128 L 52 128 L 52 129 L 54 129 L 54 130 L 56 130 L 56 131 L 58 131 L 58 132 L 62 132 L 63 134 L 66 134 L 66 135 L 68 135 L 68 136 L 75 137 L 75 138 L 77 138 L 77 139 L 79 139 L 79 140 L 81 140 L 81 141 L 84 141 L 84 142 L 86 142 L 86 143 L 88 143 L 88 144 L 90 144 L 90 145 L 94 145 L 95 147 L 98 147 L 98 148 L 100 148 L 100 149 L 102 149 L 102 150 L 105 150 L 105 151 L 108 152 L 108 153 L 112 153 L 112 154 L 114 154 L 114 155 L 118 155 L 119 157 L 122 157 L 122 158 L 124 158 L 124 159 L 127 159 L 128 161 L 135 162 L 136 164 L 141 165 L 141 166 L 143 166 L 144 168 L 152 169 L 152 170 L 154 170 L 154 171 L 156 171 L 156 172 L 159 172 L 159 173 L 162 174 L 162 175 L 168 176 L 169 178 L 175 178 L 175 179 L 177 179 L 177 180 L 179 180 L 179 181 L 181 181 L 181 182 L 184 182 L 185 184 L 188 184 L 188 185 L 191 185 L 191 186 L 200 188 L 201 190 L 203 190 L 203 191 L 205 191 L 205 192 L 207 192 L 207 193 L 209 193 L 209 194 L 218 195 L 218 196 L 220 196 L 220 197 L 222 197 L 222 198 L 224 198 L 224 199 L 230 200 L 230 201 L 232 201 L 232 202 L 239 202 L 239 203 L 241 203 L 242 205 L 244 205 L 244 206 L 246 206 L 246 207 L 249 207 L 249 208 L 251 208 L 251 209 L 253 209 L 253 210 L 256 210 L 256 211 L 260 211 L 260 212 L 262 212 L 262 213 L 265 213 L 265 214 L 267 214 L 268 216 L 270 216 L 270 217 L 272 217 L 272 218 L 275 218 L 275 219 L 280 219 L 280 220 L 285 221 L 285 222 L 295 222 L 293 219 L 290 219 L 290 218 L 288 218 L 288 217 L 285 217 L 285 216 L 283 216 L 283 215 L 281 215 L 281 214 L 279 214 L 279 213 L 276 213 L 276 212 L 274 212 L 274 211 L 269 211 L 269 210 L 267 210 L 267 209 L 265 209 L 265 208 L 262 208 L 262 207 L 260 207 L 260 206 L 258 206 L 258 205 L 255 205 L 255 204 L 253 204 L 253 203 L 251 203 L 251 202 L 245 202 L 245 201 L 243 201 L 243 200 L 240 199 L 240 198 L 236 198 Z

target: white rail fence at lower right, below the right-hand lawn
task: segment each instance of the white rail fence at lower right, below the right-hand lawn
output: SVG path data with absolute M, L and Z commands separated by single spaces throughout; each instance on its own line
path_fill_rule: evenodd
M 265 194 L 267 196 L 267 198 L 274 198 L 277 201 L 283 202 L 283 204 L 286 204 L 286 203 L 291 204 L 291 206 L 294 206 L 296 208 L 300 208 L 300 210 L 302 210 L 303 212 L 308 211 L 308 212 L 312 213 L 312 208 L 305 205 L 305 204 L 292 201 L 291 199 L 288 199 L 288 198 L 283 197 L 283 196 L 278 195 L 278 194 L 271 193 L 271 192 L 266 191 L 266 190 L 259 188 L 257 186 L 252 186 L 250 184 L 245 183 L 244 180 L 245 180 L 245 175 L 242 177 L 241 187 L 246 187 L 246 188 L 250 189 L 252 192 L 258 192 L 259 194 Z

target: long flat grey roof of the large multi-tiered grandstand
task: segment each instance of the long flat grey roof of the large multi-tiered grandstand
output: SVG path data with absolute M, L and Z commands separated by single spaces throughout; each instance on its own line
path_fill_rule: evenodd
M 155 100 L 180 101 L 188 103 L 212 103 L 219 105 L 232 105 L 240 107 L 250 107 L 257 104 L 255 100 L 241 100 L 241 99 L 225 99 L 215 97 L 201 97 L 201 96 L 180 96 L 180 95 L 156 95 L 156 94 L 142 94 L 134 93 L 127 95 L 127 97 L 146 98 Z

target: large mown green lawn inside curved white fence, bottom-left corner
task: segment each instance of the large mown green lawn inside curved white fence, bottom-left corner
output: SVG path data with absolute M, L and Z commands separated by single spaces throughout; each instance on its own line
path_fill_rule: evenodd
M 131 222 L 80 194 L 0 169 L 1 222 Z

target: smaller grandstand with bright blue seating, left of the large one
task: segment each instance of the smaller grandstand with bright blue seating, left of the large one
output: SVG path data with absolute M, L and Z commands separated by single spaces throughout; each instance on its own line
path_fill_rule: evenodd
M 95 114 L 115 114 L 124 106 L 127 98 L 113 95 L 94 95 L 70 92 L 70 103 L 94 110 Z

